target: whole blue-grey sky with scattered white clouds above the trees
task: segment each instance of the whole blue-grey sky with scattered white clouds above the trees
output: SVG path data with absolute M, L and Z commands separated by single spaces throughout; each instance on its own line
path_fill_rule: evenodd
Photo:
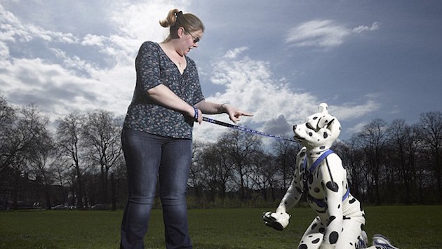
M 0 95 L 53 122 L 126 114 L 138 48 L 167 36 L 159 20 L 175 7 L 206 26 L 189 53 L 206 99 L 255 114 L 241 126 L 291 135 L 327 102 L 345 140 L 375 118 L 413 124 L 442 111 L 437 0 L 0 0 Z M 226 129 L 203 123 L 194 137 Z

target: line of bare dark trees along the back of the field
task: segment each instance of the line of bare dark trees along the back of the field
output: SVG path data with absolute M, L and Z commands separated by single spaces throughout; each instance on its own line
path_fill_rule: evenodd
M 126 166 L 123 117 L 97 109 L 72 112 L 49 128 L 35 105 L 12 107 L 0 96 L 0 210 L 123 208 Z M 363 203 L 441 203 L 442 113 L 418 123 L 373 119 L 333 150 Z M 194 141 L 188 182 L 191 208 L 269 206 L 288 188 L 300 144 L 228 130 L 215 142 Z M 159 203 L 159 201 L 157 201 Z

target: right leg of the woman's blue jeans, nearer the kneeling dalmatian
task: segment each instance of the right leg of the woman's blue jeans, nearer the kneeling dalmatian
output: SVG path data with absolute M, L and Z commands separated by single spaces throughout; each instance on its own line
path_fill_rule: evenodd
M 192 162 L 192 140 L 163 145 L 159 169 L 166 248 L 192 248 L 187 224 L 186 188 Z

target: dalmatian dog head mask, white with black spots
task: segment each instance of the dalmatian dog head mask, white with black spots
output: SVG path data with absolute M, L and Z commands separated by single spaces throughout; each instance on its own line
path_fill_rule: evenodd
M 293 136 L 297 142 L 307 147 L 311 153 L 321 153 L 330 149 L 341 132 L 340 122 L 328 114 L 328 105 L 321 103 L 318 112 L 309 116 L 305 123 L 293 126 Z

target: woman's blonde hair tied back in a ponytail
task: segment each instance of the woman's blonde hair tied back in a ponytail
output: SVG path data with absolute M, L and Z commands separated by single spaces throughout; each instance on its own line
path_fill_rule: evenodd
M 199 30 L 204 32 L 203 22 L 196 15 L 192 13 L 183 14 L 182 11 L 178 11 L 178 8 L 170 10 L 166 19 L 161 20 L 159 23 L 162 27 L 170 27 L 169 35 L 164 40 L 165 42 L 177 38 L 179 27 L 183 27 L 186 32 L 196 32 Z

